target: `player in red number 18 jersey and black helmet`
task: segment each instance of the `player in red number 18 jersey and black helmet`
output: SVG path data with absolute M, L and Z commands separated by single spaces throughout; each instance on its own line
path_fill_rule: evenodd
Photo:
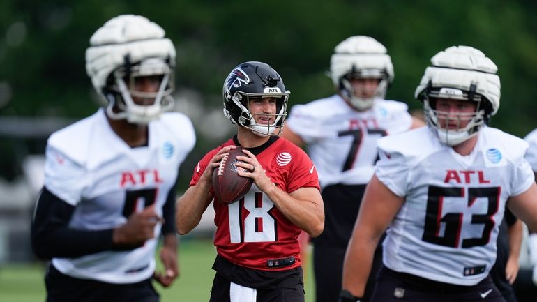
M 302 230 L 321 234 L 324 207 L 312 161 L 278 137 L 288 97 L 282 78 L 266 63 L 233 68 L 223 98 L 237 134 L 199 161 L 190 187 L 176 203 L 177 231 L 187 234 L 214 198 L 218 255 L 211 301 L 304 301 L 298 235 Z M 243 198 L 224 204 L 213 193 L 213 169 L 236 146 L 246 149 L 236 165 L 251 171 L 239 175 L 254 183 Z

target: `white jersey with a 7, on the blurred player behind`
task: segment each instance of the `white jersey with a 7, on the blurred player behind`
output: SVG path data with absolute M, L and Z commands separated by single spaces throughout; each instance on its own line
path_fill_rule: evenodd
M 285 123 L 308 144 L 322 188 L 359 185 L 373 175 L 377 140 L 411 128 L 407 110 L 404 103 L 379 98 L 372 109 L 358 112 L 335 94 L 295 105 Z

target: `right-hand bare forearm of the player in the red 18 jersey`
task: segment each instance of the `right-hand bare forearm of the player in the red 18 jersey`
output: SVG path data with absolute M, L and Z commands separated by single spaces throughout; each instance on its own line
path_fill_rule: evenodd
M 317 237 L 324 229 L 324 206 L 322 199 L 313 200 L 315 195 L 301 194 L 301 190 L 307 189 L 317 191 L 316 188 L 300 188 L 289 195 L 277 186 L 271 186 L 265 194 L 294 225 Z

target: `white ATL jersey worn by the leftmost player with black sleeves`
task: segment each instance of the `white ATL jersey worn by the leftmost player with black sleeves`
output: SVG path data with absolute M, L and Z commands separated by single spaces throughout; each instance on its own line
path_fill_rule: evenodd
M 165 113 L 149 123 L 149 145 L 130 148 L 109 126 L 103 109 L 53 133 L 48 140 L 45 186 L 75 206 L 69 227 L 111 229 L 133 211 L 156 204 L 162 216 L 179 165 L 195 144 L 190 119 Z M 156 239 L 134 250 L 105 251 L 77 258 L 54 258 L 66 275 L 109 283 L 133 283 L 151 277 Z

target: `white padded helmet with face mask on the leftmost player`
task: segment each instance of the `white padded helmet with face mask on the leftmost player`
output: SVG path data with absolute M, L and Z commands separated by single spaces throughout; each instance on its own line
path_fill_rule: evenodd
M 90 38 L 86 72 L 96 91 L 108 102 L 112 119 L 149 123 L 173 106 L 175 47 L 158 24 L 139 15 L 120 15 L 106 22 Z M 136 93 L 125 80 L 160 75 L 156 93 Z M 154 98 L 153 105 L 136 105 L 132 97 Z M 118 112 L 119 110 L 119 112 Z

